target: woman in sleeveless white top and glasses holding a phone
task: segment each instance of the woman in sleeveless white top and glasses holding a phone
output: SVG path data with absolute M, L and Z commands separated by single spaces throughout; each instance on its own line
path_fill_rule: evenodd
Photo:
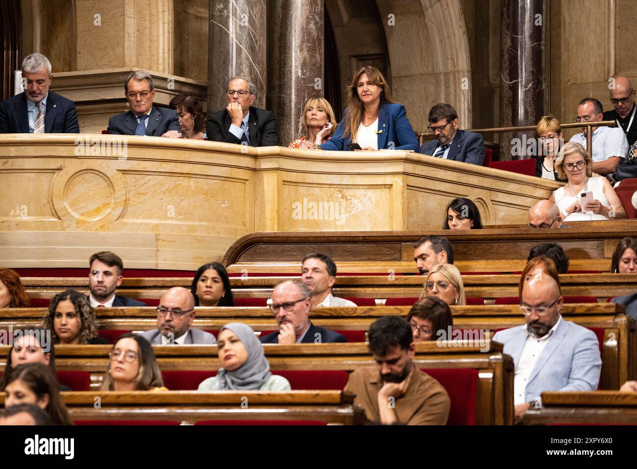
M 592 167 L 592 160 L 582 145 L 565 144 L 555 160 L 555 172 L 568 182 L 553 191 L 548 200 L 557 204 L 564 221 L 626 218 L 626 211 L 610 182 L 605 177 L 591 177 Z M 593 200 L 582 207 L 580 199 L 586 191 L 592 191 Z

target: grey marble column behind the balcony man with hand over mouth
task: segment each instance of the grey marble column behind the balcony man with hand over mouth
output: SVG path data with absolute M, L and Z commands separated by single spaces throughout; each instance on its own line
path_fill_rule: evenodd
M 230 78 L 242 75 L 256 87 L 256 107 L 265 107 L 267 70 L 266 0 L 210 0 L 208 110 L 227 105 Z

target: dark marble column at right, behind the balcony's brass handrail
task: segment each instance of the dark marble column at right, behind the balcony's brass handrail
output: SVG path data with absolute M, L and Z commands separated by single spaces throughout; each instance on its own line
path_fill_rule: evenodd
M 500 124 L 535 125 L 548 114 L 548 6 L 546 0 L 503 0 L 500 30 Z M 500 134 L 501 160 L 528 158 L 523 133 Z M 513 145 L 519 138 L 522 145 Z M 526 141 L 536 138 L 526 132 Z M 513 154 L 524 147 L 522 154 Z M 516 152 L 520 153 L 520 152 Z

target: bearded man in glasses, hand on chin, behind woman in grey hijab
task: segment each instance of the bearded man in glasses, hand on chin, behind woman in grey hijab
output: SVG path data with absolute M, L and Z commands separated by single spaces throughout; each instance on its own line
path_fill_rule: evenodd
M 347 342 L 345 336 L 311 323 L 311 293 L 299 280 L 285 280 L 276 285 L 270 309 L 275 313 L 279 330 L 259 338 L 261 343 Z

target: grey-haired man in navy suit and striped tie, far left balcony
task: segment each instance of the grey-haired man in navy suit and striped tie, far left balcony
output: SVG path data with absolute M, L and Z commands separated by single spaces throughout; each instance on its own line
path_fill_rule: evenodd
M 80 133 L 75 103 L 48 91 L 52 78 L 47 57 L 25 57 L 22 79 L 26 87 L 0 103 L 0 133 Z

